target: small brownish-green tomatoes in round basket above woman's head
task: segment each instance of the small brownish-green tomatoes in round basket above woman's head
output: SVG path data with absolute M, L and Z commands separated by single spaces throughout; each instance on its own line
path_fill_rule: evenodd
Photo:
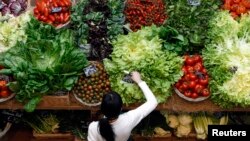
M 90 76 L 81 75 L 72 92 L 87 104 L 97 104 L 102 96 L 110 91 L 110 82 L 104 66 L 98 62 L 91 62 L 94 72 Z

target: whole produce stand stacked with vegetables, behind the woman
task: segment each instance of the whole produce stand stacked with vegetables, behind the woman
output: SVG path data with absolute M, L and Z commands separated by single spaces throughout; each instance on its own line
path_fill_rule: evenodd
M 64 111 L 66 117 L 70 111 L 87 111 L 85 121 L 76 119 L 86 129 L 102 116 L 101 97 L 110 90 L 121 95 L 124 111 L 143 103 L 130 79 L 133 70 L 140 70 L 160 102 L 153 111 L 161 114 L 160 125 L 171 129 L 165 136 L 154 130 L 148 136 L 138 127 L 134 141 L 194 141 L 195 120 L 205 119 L 206 126 L 219 113 L 210 123 L 224 125 L 230 112 L 250 113 L 248 0 L 27 0 L 26 9 L 25 0 L 14 1 L 0 0 L 0 71 L 14 76 L 8 87 L 0 83 L 0 114 Z M 19 19 L 2 22 L 6 13 Z M 61 90 L 64 94 L 55 94 Z M 185 126 L 190 131 L 177 137 L 169 117 L 180 122 L 182 114 L 192 117 Z M 73 141 L 79 136 L 72 129 L 38 134 L 16 127 L 18 114 L 8 116 L 14 117 L 12 128 L 1 141 Z M 143 124 L 151 133 L 149 120 Z

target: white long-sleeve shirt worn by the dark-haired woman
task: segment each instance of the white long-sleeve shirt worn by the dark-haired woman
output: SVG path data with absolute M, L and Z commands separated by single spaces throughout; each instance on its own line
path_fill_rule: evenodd
M 116 121 L 112 122 L 115 133 L 115 141 L 127 141 L 133 128 L 157 106 L 157 100 L 149 89 L 148 85 L 142 81 L 139 84 L 146 102 L 134 110 L 119 115 Z M 98 129 L 98 121 L 93 121 L 88 129 L 88 141 L 105 141 Z

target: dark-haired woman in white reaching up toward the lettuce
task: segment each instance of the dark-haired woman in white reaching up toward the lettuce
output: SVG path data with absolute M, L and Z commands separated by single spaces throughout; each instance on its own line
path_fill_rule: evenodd
M 105 94 L 101 103 L 104 118 L 93 121 L 88 129 L 88 141 L 127 141 L 133 128 L 157 106 L 157 100 L 138 72 L 132 80 L 141 88 L 146 102 L 134 110 L 121 114 L 122 99 L 116 92 Z

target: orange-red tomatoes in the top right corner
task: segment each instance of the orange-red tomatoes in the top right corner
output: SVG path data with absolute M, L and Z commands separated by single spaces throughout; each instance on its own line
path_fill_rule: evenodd
M 241 14 L 247 13 L 250 9 L 250 0 L 224 0 L 223 9 L 229 10 L 230 14 L 237 18 Z

